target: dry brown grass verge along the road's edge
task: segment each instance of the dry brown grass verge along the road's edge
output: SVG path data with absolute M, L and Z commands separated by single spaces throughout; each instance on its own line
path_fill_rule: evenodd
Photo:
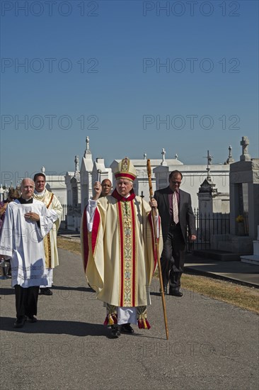
M 57 237 L 57 247 L 81 255 L 79 240 Z M 156 277 L 158 272 L 156 272 Z M 223 280 L 183 274 L 183 289 L 259 313 L 259 290 Z

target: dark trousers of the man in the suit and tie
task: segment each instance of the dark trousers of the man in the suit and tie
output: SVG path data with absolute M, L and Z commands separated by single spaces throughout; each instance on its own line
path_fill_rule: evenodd
M 163 243 L 163 252 L 161 255 L 164 289 L 167 288 L 169 282 L 169 291 L 179 291 L 184 261 L 185 240 L 183 239 L 180 225 L 171 226 L 166 242 Z

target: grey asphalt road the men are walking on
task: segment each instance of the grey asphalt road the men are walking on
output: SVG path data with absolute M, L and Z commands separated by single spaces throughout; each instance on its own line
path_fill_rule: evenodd
M 258 390 L 255 313 L 192 291 L 166 296 L 167 341 L 154 280 L 152 328 L 111 340 L 81 258 L 59 255 L 54 294 L 39 297 L 38 323 L 13 328 L 13 290 L 1 281 L 1 390 Z

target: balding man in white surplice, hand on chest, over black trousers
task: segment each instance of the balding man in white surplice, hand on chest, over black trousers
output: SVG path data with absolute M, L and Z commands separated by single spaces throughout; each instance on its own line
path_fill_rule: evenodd
M 37 321 L 39 286 L 50 283 L 43 238 L 57 220 L 56 211 L 33 199 L 34 182 L 23 179 L 21 198 L 8 204 L 0 240 L 0 256 L 11 259 L 11 284 L 16 293 L 15 328 Z

